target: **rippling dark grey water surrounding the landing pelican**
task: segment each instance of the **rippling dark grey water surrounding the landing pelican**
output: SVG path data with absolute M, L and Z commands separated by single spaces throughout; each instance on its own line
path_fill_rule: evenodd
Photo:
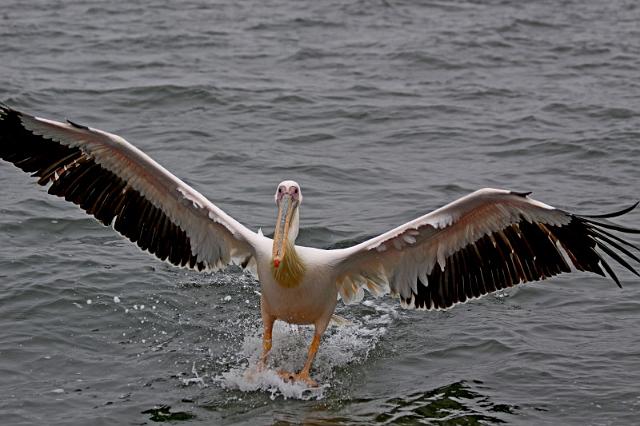
M 121 134 L 265 232 L 295 179 L 300 241 L 326 247 L 484 186 L 637 200 L 639 22 L 634 0 L 2 0 L 0 100 Z M 576 274 L 447 312 L 339 305 L 325 387 L 250 390 L 256 282 L 172 269 L 6 163 L 0 183 L 0 423 L 639 418 L 626 271 L 623 290 Z M 299 368 L 309 338 L 279 327 L 274 363 Z

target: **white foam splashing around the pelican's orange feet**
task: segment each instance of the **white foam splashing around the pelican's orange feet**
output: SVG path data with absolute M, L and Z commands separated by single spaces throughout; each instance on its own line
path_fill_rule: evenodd
M 378 340 L 386 333 L 387 326 L 397 317 L 395 305 L 365 302 L 376 314 L 350 318 L 348 322 L 330 327 L 322 338 L 316 356 L 312 378 L 319 386 L 310 388 L 299 382 L 285 382 L 277 371 L 299 371 L 307 357 L 313 337 L 313 327 L 295 326 L 277 321 L 273 329 L 273 348 L 267 366 L 259 369 L 258 359 L 262 351 L 262 329 L 245 334 L 238 360 L 228 371 L 213 378 L 224 389 L 242 392 L 268 392 L 274 399 L 322 399 L 331 388 L 333 372 L 354 362 L 364 362 Z

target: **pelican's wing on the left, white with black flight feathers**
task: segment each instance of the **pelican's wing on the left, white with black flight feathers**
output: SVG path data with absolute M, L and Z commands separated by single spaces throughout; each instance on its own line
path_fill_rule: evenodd
M 162 260 L 247 266 L 258 234 L 120 136 L 0 104 L 0 157 Z

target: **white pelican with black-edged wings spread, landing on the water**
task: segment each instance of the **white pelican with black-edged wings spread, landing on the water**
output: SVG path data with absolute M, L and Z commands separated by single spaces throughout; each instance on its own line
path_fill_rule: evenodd
M 35 117 L 0 104 L 0 157 L 38 178 L 48 192 L 80 206 L 142 250 L 173 265 L 217 271 L 230 264 L 261 285 L 264 325 L 259 365 L 272 347 L 276 320 L 314 326 L 304 367 L 280 371 L 316 386 L 311 367 L 339 299 L 364 290 L 390 293 L 405 308 L 448 309 L 519 283 L 572 270 L 620 286 L 605 256 L 635 275 L 638 247 L 620 237 L 640 230 L 610 218 L 569 213 L 530 193 L 480 189 L 352 247 L 296 245 L 303 201 L 292 180 L 276 188 L 273 239 L 227 215 L 125 139 L 67 120 Z

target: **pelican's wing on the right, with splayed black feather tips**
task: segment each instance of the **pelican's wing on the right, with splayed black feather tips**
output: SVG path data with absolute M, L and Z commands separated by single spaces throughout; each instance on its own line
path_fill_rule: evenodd
M 636 205 L 608 215 L 579 216 L 528 194 L 482 189 L 383 235 L 335 250 L 340 295 L 350 302 L 362 297 L 363 288 L 374 294 L 390 291 L 403 306 L 446 309 L 570 272 L 571 266 L 602 276 L 606 271 L 620 285 L 602 253 L 638 275 L 620 255 L 640 262 L 630 250 L 638 247 L 611 231 L 640 230 L 607 219 Z

